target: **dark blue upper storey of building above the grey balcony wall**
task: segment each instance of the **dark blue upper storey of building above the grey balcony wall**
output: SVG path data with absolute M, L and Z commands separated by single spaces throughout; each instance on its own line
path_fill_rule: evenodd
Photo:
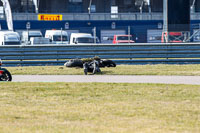
M 40 13 L 87 13 L 90 0 L 82 2 L 70 2 L 73 0 L 40 0 Z M 97 13 L 109 13 L 111 6 L 118 6 L 119 13 L 139 12 L 136 3 L 142 0 L 92 0 L 92 5 L 96 5 Z M 190 0 L 190 4 L 194 0 Z M 13 12 L 35 12 L 32 0 L 9 0 Z M 2 5 L 2 2 L 0 2 Z M 152 12 L 163 11 L 163 0 L 150 0 Z M 195 2 L 195 11 L 200 12 L 200 0 Z M 143 6 L 143 12 L 148 12 L 148 6 Z

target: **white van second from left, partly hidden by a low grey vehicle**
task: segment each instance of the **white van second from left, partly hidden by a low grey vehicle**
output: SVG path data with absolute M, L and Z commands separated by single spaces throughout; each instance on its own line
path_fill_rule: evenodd
M 30 44 L 31 37 L 42 37 L 42 33 L 39 30 L 22 31 L 22 35 L 21 35 L 22 43 Z

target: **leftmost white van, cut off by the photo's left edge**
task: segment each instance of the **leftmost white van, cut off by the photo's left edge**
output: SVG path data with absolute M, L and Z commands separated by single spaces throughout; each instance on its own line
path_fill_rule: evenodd
M 21 45 L 19 34 L 14 31 L 0 31 L 0 45 Z

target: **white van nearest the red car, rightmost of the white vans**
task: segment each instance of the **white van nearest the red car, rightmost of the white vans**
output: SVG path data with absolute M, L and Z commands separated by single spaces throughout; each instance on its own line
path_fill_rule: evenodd
M 72 33 L 70 37 L 70 44 L 94 44 L 95 40 L 91 34 L 88 33 Z M 96 43 L 99 40 L 96 38 Z

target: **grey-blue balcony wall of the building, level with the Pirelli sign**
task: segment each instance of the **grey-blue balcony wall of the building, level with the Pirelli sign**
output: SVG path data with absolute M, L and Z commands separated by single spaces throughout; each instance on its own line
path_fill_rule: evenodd
M 119 13 L 112 18 L 110 13 L 62 13 L 63 20 L 162 20 L 162 13 Z M 195 16 L 195 15 L 194 15 Z M 199 15 L 198 15 L 199 16 Z M 198 18 L 192 17 L 192 18 Z M 5 18 L 2 18 L 3 20 Z M 34 13 L 13 13 L 14 20 L 38 20 Z M 200 18 L 199 18 L 200 19 Z

